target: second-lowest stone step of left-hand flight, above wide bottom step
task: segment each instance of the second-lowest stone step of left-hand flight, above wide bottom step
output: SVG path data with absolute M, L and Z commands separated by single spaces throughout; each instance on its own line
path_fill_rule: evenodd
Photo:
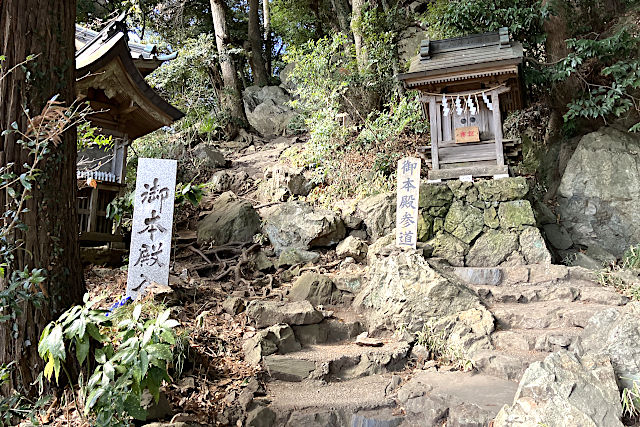
M 400 370 L 409 350 L 407 342 L 391 340 L 382 347 L 363 347 L 353 342 L 310 345 L 295 353 L 267 356 L 264 363 L 275 380 L 344 380 Z

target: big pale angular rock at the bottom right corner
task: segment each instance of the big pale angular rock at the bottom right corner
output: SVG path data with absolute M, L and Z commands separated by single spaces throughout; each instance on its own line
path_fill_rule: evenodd
M 577 357 L 561 350 L 525 371 L 512 406 L 495 427 L 622 426 L 613 367 L 603 355 Z

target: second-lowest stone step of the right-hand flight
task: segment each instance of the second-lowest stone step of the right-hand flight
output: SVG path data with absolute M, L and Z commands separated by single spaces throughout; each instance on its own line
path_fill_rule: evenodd
M 577 340 L 582 328 L 510 329 L 495 331 L 491 342 L 496 350 L 545 351 L 567 349 Z

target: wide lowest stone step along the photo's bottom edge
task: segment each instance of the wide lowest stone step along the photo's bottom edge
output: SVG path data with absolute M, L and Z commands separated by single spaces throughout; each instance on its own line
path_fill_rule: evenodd
M 279 426 L 485 426 L 511 404 L 517 383 L 483 374 L 415 371 L 340 382 L 267 384 Z

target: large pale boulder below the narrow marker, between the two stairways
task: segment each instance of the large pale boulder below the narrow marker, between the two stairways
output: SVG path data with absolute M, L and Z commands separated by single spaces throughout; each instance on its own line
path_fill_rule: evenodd
M 372 330 L 419 332 L 428 325 L 462 354 L 492 348 L 494 318 L 478 295 L 436 272 L 419 251 L 377 255 L 354 304 L 369 310 Z

